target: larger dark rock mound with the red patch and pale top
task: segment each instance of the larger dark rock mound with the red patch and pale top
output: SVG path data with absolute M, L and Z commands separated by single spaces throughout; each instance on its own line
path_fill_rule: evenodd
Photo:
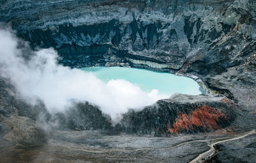
M 142 111 L 124 114 L 126 132 L 141 134 L 211 132 L 236 120 L 236 110 L 218 96 L 176 94 Z

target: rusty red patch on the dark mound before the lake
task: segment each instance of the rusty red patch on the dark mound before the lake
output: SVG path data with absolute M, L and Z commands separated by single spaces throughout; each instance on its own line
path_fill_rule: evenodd
M 203 127 L 208 129 L 216 130 L 220 128 L 217 124 L 217 121 L 220 118 L 227 118 L 227 116 L 217 108 L 212 108 L 208 105 L 202 105 L 200 107 L 196 107 L 191 114 L 182 114 L 179 113 L 179 116 L 175 123 L 173 124 L 173 128 L 167 126 L 168 132 L 177 133 L 181 130 L 194 130 L 196 127 Z

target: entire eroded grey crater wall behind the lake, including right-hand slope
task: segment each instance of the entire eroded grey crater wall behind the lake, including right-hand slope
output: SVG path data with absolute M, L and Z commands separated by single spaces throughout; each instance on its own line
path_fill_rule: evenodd
M 64 65 L 184 74 L 253 111 L 255 8 L 253 0 L 2 1 L 0 19 L 31 47 L 54 47 Z

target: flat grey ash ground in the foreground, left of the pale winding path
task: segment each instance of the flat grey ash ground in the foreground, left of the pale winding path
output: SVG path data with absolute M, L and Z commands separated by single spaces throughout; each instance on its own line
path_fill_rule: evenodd
M 54 130 L 35 148 L 0 148 L 0 162 L 189 162 L 223 136 L 104 136 L 92 131 Z M 191 150 L 193 149 L 193 150 Z

